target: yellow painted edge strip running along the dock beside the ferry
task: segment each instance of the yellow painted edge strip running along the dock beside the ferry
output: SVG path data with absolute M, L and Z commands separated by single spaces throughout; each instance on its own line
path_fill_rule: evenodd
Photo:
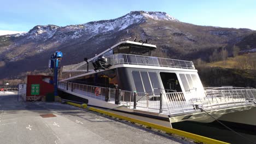
M 78 106 L 78 107 L 83 107 L 80 104 L 72 103 L 72 102 L 69 102 L 69 101 L 67 101 L 67 104 Z M 87 105 L 86 105 L 86 107 L 87 107 Z M 214 140 L 214 139 L 211 139 L 211 138 L 208 138 L 208 137 L 205 137 L 205 136 L 196 135 L 196 134 L 188 133 L 186 131 L 182 131 L 182 130 L 178 130 L 178 129 L 172 129 L 172 128 L 168 128 L 168 127 L 165 127 L 165 126 L 162 126 L 162 125 L 141 121 L 139 119 L 125 117 L 125 116 L 117 115 L 117 114 L 112 113 L 112 112 L 95 109 L 94 107 L 90 107 L 88 110 L 103 113 L 105 115 L 117 117 L 117 118 L 120 118 L 120 119 L 125 119 L 126 121 L 130 121 L 130 122 L 133 122 L 133 123 L 143 124 L 143 125 L 146 125 L 148 127 L 154 128 L 154 129 L 159 129 L 159 130 L 165 131 L 166 133 L 171 133 L 171 134 L 176 134 L 176 135 L 179 135 L 179 136 L 187 137 L 188 139 L 194 140 L 196 142 L 203 142 L 203 143 L 209 143 L 209 144 L 228 144 L 226 142 Z

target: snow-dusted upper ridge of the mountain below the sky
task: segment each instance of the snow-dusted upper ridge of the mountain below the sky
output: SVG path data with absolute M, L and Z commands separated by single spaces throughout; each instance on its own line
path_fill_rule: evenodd
M 28 33 L 18 34 L 15 37 L 27 36 L 27 39 L 44 41 L 53 38 L 58 41 L 65 41 L 67 39 L 80 38 L 84 34 L 90 34 L 91 37 L 94 37 L 94 35 L 99 33 L 121 31 L 131 25 L 146 22 L 147 19 L 178 22 L 177 19 L 164 12 L 131 11 L 131 13 L 117 19 L 93 21 L 82 25 L 70 25 L 66 27 L 54 25 L 35 26 Z

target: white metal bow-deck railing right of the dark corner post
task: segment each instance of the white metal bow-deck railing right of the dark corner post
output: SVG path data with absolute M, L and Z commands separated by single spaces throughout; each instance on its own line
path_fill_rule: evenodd
M 256 89 L 207 90 L 205 97 L 190 97 L 185 100 L 184 93 L 165 93 L 170 113 L 181 113 L 202 109 L 253 104 Z M 164 107 L 166 109 L 166 107 Z

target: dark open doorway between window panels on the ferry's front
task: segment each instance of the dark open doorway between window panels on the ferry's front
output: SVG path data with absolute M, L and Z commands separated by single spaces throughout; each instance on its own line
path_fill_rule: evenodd
M 162 85 L 166 93 L 182 92 L 181 85 L 179 85 L 178 77 L 175 73 L 160 73 Z

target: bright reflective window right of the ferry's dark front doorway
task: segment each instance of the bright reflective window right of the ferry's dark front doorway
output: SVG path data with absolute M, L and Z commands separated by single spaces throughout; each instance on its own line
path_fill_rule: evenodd
M 191 91 L 200 87 L 200 80 L 195 74 L 179 74 L 185 91 Z

